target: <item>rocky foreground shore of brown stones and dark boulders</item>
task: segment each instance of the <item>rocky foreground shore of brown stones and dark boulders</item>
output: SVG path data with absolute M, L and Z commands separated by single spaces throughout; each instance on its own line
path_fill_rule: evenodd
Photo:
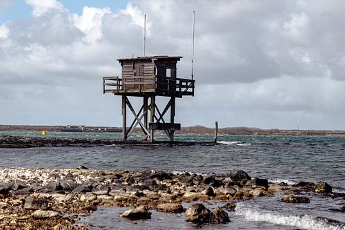
M 309 202 L 313 195 L 335 196 L 326 182 L 295 185 L 250 178 L 244 171 L 228 175 L 174 174 L 164 171 L 90 171 L 77 169 L 0 168 L 0 229 L 88 229 L 77 213 L 98 207 L 136 207 L 124 218 L 150 218 L 150 209 L 181 213 L 186 221 L 229 222 L 226 211 L 236 202 L 257 196 L 282 195 L 282 202 Z M 344 194 L 343 194 L 344 195 Z M 208 210 L 202 202 L 219 200 L 224 207 Z M 188 209 L 182 202 L 197 202 Z M 224 211 L 224 209 L 226 211 Z

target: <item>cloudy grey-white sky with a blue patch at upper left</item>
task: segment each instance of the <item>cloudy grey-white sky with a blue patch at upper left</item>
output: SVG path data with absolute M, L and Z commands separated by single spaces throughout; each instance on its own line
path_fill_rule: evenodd
M 182 126 L 345 130 L 345 1 L 0 0 L 0 124 L 121 126 L 116 59 L 181 55 Z M 140 99 L 131 99 L 139 106 Z M 164 106 L 165 99 L 158 99 Z

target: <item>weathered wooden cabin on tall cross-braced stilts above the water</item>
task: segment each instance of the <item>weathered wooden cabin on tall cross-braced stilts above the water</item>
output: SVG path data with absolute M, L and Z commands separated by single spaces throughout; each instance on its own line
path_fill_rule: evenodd
M 146 140 L 153 142 L 155 130 L 166 131 L 169 139 L 174 140 L 175 130 L 181 128 L 181 124 L 174 122 L 175 99 L 194 96 L 195 87 L 194 79 L 177 78 L 176 65 L 181 58 L 181 56 L 152 56 L 118 59 L 122 67 L 122 78 L 103 77 L 103 93 L 122 96 L 123 140 L 127 140 L 138 124 Z M 157 96 L 170 97 L 163 111 L 159 111 L 155 102 Z M 143 105 L 138 113 L 135 112 L 128 97 L 143 97 Z M 135 116 L 129 128 L 127 107 Z M 169 108 L 170 122 L 166 122 L 164 115 Z M 149 112 L 150 122 L 148 122 Z

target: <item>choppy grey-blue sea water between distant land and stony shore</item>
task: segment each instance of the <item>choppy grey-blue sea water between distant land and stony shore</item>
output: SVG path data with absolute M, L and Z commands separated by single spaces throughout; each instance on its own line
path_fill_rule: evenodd
M 39 133 L 0 133 L 0 135 Z M 55 137 L 120 138 L 118 133 L 49 133 Z M 164 135 L 157 135 L 163 139 Z M 139 136 L 137 136 L 139 138 Z M 210 135 L 177 135 L 177 140 L 211 141 Z M 190 171 L 226 174 L 242 169 L 252 177 L 280 182 L 324 180 L 333 191 L 345 193 L 345 137 L 222 135 L 216 146 L 151 146 L 92 148 L 59 147 L 0 149 L 0 166 L 75 168 L 82 164 L 101 170 Z M 331 211 L 345 205 L 341 198 L 315 196 L 310 204 L 285 204 L 282 195 L 241 203 L 229 224 L 204 229 L 345 229 L 345 213 Z M 208 204 L 210 207 L 219 204 Z M 187 207 L 188 204 L 185 205 Z M 207 205 L 206 205 L 207 206 Z M 153 212 L 152 220 L 128 222 L 117 218 L 121 208 L 99 209 L 88 221 L 106 229 L 195 229 L 183 215 Z M 111 218 L 110 218 L 111 216 Z M 337 220 L 332 222 L 329 218 Z M 172 225 L 171 223 L 174 223 Z M 97 229 L 97 227 L 95 227 Z

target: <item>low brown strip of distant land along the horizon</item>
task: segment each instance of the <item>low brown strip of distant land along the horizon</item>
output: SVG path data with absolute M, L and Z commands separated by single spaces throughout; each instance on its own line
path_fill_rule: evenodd
M 0 131 L 50 131 L 60 132 L 66 126 L 29 126 L 29 125 L 0 125 Z M 108 127 L 108 126 L 86 126 L 92 130 L 111 130 L 121 127 Z M 137 129 L 140 131 L 140 129 Z M 215 128 L 208 128 L 206 126 L 189 126 L 182 127 L 181 131 L 176 133 L 181 134 L 201 134 L 213 135 Z M 288 130 L 278 128 L 249 128 L 249 127 L 227 127 L 219 128 L 219 135 L 345 135 L 345 131 L 331 131 L 331 130 Z

